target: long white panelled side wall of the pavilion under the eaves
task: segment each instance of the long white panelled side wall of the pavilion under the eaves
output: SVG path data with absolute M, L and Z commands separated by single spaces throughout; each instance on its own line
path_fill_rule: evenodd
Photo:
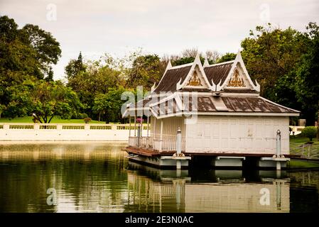
M 186 152 L 276 153 L 276 131 L 281 131 L 281 153 L 288 154 L 286 116 L 198 116 L 186 125 Z

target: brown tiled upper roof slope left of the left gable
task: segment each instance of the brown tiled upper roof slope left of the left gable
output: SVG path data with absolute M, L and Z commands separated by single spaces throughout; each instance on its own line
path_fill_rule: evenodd
M 180 67 L 177 69 L 167 70 L 166 74 L 163 75 L 163 79 L 161 80 L 158 87 L 154 90 L 154 92 L 173 92 L 176 91 L 176 84 L 180 81 L 183 83 L 184 79 L 190 72 L 190 68 L 192 66 Z

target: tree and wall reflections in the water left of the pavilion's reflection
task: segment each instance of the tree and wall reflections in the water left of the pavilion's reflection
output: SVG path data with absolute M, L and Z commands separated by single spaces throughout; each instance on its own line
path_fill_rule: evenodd
M 121 211 L 127 179 L 121 145 L 92 145 L 0 147 L 1 211 Z M 50 187 L 58 206 L 46 204 Z

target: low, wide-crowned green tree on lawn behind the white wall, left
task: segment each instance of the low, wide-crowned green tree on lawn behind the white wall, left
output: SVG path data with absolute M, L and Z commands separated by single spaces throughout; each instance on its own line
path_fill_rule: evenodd
M 79 113 L 82 104 L 77 94 L 60 82 L 27 80 L 11 87 L 10 116 L 35 116 L 40 123 L 50 123 L 53 116 L 70 118 Z

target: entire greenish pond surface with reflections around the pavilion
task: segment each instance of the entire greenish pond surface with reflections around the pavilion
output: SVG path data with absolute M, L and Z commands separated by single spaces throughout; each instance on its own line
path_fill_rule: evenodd
M 319 211 L 318 170 L 157 170 L 124 146 L 0 144 L 0 212 Z

